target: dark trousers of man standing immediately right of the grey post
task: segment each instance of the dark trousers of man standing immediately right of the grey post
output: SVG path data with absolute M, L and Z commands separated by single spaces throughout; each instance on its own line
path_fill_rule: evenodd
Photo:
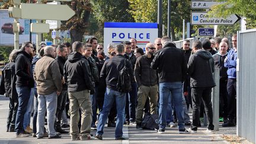
M 228 118 L 228 79 L 220 79 L 219 89 L 219 116 Z

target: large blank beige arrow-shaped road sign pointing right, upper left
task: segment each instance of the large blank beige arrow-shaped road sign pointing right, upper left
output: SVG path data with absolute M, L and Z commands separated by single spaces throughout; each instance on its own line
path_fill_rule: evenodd
M 68 5 L 21 4 L 21 18 L 35 20 L 69 20 L 75 12 Z

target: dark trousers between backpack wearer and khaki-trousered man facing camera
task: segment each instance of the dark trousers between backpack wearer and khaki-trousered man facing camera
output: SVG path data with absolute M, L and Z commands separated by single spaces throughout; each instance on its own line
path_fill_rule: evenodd
M 137 84 L 132 83 L 132 90 L 126 94 L 126 121 L 136 120 Z

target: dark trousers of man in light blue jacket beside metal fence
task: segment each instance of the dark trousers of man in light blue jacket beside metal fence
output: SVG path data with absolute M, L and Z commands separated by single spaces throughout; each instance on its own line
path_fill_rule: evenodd
M 228 79 L 228 119 L 236 118 L 236 79 Z

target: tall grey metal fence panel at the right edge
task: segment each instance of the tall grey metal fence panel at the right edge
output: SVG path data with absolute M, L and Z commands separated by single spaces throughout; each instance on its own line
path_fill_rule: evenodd
M 256 29 L 238 31 L 237 135 L 256 143 Z

